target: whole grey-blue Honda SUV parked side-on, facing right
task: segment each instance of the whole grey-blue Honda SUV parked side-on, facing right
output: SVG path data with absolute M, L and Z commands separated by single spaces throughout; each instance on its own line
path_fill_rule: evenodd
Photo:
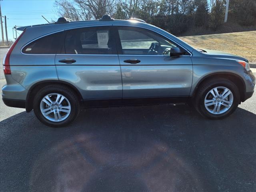
M 7 106 L 32 109 L 48 126 L 72 122 L 80 106 L 189 102 L 224 118 L 254 92 L 248 60 L 199 50 L 142 20 L 68 22 L 18 28 L 4 59 Z

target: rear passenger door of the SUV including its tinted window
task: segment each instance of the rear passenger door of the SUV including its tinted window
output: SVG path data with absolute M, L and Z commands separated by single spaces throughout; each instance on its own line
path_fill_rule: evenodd
M 55 64 L 59 80 L 80 90 L 84 100 L 122 98 L 122 79 L 111 26 L 66 30 Z

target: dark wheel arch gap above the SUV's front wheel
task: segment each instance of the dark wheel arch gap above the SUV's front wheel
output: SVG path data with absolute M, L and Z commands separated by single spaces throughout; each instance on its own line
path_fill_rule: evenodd
M 198 91 L 198 88 L 200 87 L 200 85 L 202 85 L 203 82 L 210 80 L 212 78 L 225 78 L 225 79 L 228 79 L 228 80 L 231 80 L 232 82 L 234 82 L 236 84 L 236 86 L 238 86 L 238 90 L 240 92 L 240 102 L 244 102 L 245 92 L 246 92 L 245 82 L 241 76 L 239 76 L 238 74 L 232 73 L 232 72 L 215 72 L 215 73 L 211 73 L 211 74 L 204 76 L 196 84 L 196 86 L 192 92 L 192 98 L 196 95 L 196 92 Z

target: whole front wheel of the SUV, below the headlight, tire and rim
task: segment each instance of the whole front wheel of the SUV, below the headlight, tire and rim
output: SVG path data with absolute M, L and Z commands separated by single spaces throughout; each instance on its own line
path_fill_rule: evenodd
M 236 110 L 240 102 L 238 87 L 228 79 L 216 78 L 199 87 L 194 97 L 196 110 L 204 117 L 221 119 Z

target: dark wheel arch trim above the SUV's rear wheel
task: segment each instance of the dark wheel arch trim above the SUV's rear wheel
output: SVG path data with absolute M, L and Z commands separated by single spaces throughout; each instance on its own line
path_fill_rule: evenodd
M 28 102 L 28 101 L 34 98 L 36 92 L 39 91 L 44 86 L 53 85 L 53 84 L 67 86 L 68 88 L 70 88 L 75 92 L 75 94 L 78 97 L 78 100 L 82 101 L 82 95 L 74 85 L 61 80 L 44 80 L 44 81 L 40 81 L 33 84 L 28 90 L 28 94 L 26 96 L 26 112 L 30 112 L 33 109 L 33 102 Z

